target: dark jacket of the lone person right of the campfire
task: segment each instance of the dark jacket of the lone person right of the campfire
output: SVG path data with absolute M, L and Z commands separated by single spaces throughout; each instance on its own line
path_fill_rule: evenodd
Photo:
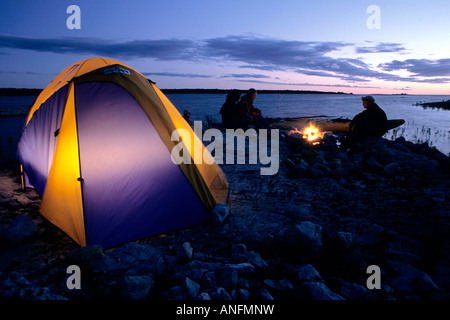
M 349 127 L 350 133 L 358 138 L 382 137 L 387 131 L 386 113 L 373 103 L 357 114 Z

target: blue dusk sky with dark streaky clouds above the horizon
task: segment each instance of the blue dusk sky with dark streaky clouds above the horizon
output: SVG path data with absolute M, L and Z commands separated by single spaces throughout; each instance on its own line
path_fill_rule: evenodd
M 67 28 L 70 5 L 81 29 Z M 0 87 L 44 88 L 102 56 L 162 89 L 450 94 L 449 12 L 447 0 L 3 0 Z

